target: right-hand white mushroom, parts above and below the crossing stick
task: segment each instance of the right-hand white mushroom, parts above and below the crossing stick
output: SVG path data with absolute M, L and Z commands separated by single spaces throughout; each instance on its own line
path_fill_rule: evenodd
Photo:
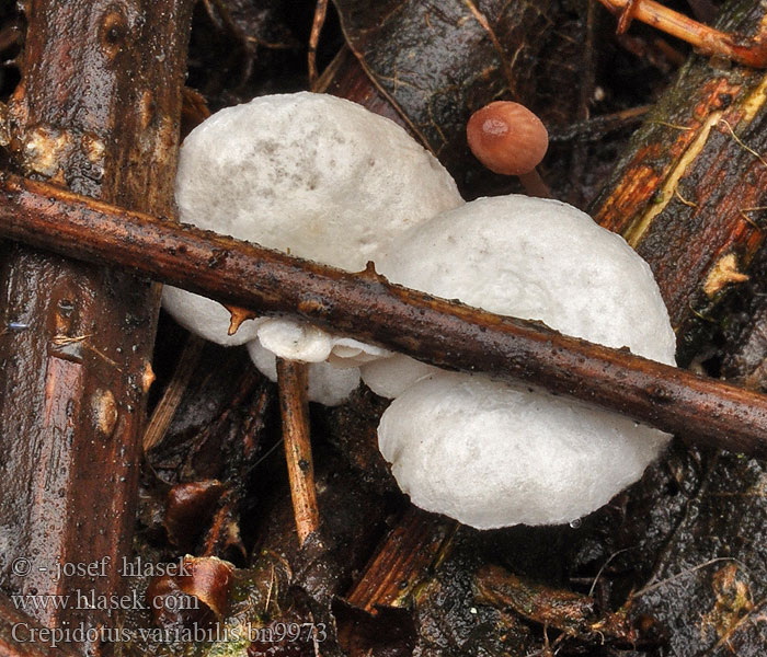
M 398 238 L 378 270 L 394 283 L 674 362 L 650 267 L 580 210 L 526 196 L 480 199 Z M 574 520 L 639 479 L 667 437 L 525 385 L 394 356 L 363 368 L 397 392 L 379 443 L 422 508 L 481 529 Z

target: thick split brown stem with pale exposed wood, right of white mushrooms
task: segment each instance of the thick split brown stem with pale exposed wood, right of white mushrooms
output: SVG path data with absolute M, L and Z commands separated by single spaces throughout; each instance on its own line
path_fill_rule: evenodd
M 766 15 L 737 0 L 719 26 L 749 34 Z M 592 207 L 650 263 L 683 341 L 764 242 L 766 90 L 764 71 L 694 56 Z

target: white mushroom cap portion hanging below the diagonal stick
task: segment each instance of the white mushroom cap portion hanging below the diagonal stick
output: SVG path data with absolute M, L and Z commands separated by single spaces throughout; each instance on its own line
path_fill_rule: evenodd
M 668 438 L 543 391 L 450 373 L 396 399 L 378 436 L 413 504 L 478 529 L 575 520 L 637 481 Z

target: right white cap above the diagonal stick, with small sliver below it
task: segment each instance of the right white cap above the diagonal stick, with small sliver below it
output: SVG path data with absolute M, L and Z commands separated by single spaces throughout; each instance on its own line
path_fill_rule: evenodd
M 401 234 L 376 268 L 392 283 L 674 364 L 676 336 L 648 264 L 558 200 L 513 194 L 467 203 Z M 402 355 L 362 369 L 384 396 L 434 371 Z

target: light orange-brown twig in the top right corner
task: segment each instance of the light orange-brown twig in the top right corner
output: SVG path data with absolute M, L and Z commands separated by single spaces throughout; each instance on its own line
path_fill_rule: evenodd
M 754 68 L 767 67 L 767 39 L 763 34 L 741 41 L 734 35 L 709 27 L 653 0 L 599 0 L 599 2 L 618 14 L 619 33 L 621 28 L 628 26 L 631 19 L 637 19 L 687 42 L 703 55 L 720 55 Z

